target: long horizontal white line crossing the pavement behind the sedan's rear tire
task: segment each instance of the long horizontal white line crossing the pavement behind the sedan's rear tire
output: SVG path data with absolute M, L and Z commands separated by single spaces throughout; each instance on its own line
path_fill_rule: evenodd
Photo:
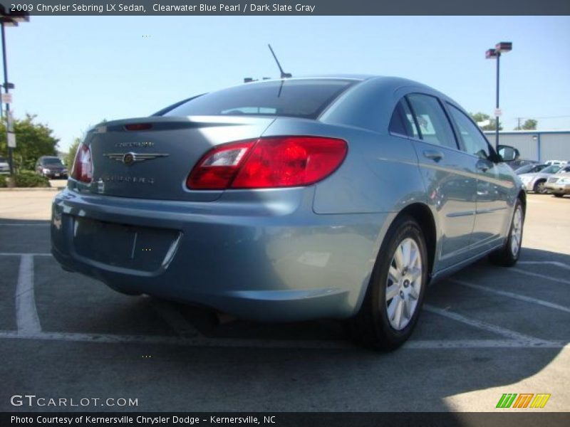
M 21 334 L 16 331 L 0 331 L 0 339 L 38 339 L 46 341 L 91 342 L 94 344 L 159 344 L 181 347 L 235 347 L 266 349 L 358 349 L 348 341 L 291 341 L 277 339 L 185 338 L 149 335 L 81 334 L 70 332 L 35 332 Z M 513 339 L 457 339 L 410 340 L 403 349 L 488 349 L 488 348 L 570 348 L 560 341 L 536 341 Z

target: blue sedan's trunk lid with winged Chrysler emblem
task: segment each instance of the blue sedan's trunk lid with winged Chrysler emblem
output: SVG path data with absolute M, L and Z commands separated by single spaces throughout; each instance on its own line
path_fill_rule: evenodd
M 192 116 L 102 123 L 88 132 L 84 142 L 90 146 L 93 159 L 93 182 L 88 191 L 155 200 L 218 199 L 222 191 L 187 189 L 186 179 L 192 167 L 216 145 L 260 137 L 274 120 L 275 117 Z M 73 180 L 70 186 L 85 188 Z

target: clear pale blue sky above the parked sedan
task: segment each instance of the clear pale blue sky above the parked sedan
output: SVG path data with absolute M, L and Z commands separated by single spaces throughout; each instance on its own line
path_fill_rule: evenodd
M 470 112 L 534 118 L 570 130 L 569 16 L 31 16 L 6 28 L 11 109 L 51 129 L 66 152 L 100 120 L 142 117 L 192 95 L 279 77 L 267 43 L 294 76 L 410 78 Z

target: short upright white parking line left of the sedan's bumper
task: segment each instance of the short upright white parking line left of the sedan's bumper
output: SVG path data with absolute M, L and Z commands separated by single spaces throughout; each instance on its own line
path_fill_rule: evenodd
M 22 255 L 16 285 L 16 325 L 19 333 L 41 332 L 33 295 L 33 256 Z

